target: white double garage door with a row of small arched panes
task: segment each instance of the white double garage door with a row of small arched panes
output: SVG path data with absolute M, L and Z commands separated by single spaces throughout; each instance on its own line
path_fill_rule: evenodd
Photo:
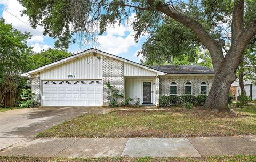
M 44 80 L 43 106 L 100 106 L 102 80 Z

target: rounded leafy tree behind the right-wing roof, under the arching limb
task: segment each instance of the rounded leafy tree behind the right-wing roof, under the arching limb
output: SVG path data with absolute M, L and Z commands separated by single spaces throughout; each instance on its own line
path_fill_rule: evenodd
M 170 18 L 151 31 L 142 49 L 142 64 L 151 65 L 200 65 L 212 68 L 208 50 L 198 42 L 195 33 Z

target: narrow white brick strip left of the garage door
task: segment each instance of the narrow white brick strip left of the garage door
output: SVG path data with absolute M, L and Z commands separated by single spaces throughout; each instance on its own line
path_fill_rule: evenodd
M 40 92 L 40 73 L 34 74 L 31 80 L 31 91 L 34 93 L 34 100 L 41 100 L 41 92 Z

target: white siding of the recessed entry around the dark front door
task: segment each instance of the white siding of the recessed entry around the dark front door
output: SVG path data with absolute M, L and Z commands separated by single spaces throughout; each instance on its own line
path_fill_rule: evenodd
M 152 81 L 152 103 L 155 104 L 155 78 L 126 78 L 125 79 L 125 98 L 131 97 L 140 98 L 140 104 L 142 104 L 142 82 Z

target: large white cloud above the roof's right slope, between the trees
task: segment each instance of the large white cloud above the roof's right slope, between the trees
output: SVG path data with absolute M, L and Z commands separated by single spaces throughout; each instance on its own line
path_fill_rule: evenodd
M 128 52 L 130 47 L 138 47 L 139 44 L 134 41 L 135 31 L 131 25 L 134 19 L 135 13 L 132 13 L 125 24 L 116 23 L 114 27 L 107 28 L 105 35 L 98 36 L 99 49 L 118 55 Z M 146 35 L 141 38 L 143 37 Z

